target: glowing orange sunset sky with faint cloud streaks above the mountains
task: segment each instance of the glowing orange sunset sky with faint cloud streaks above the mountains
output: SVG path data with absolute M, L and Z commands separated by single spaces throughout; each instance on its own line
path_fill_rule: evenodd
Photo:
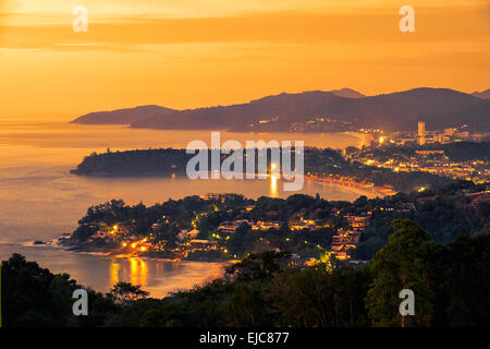
M 490 88 L 490 0 L 0 0 L 0 120 L 420 86 Z

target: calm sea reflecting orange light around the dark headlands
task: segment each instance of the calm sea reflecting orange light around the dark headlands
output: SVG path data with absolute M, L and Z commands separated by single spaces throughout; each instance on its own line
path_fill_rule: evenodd
M 305 141 L 306 145 L 344 148 L 367 140 L 347 134 L 221 133 L 226 140 Z M 131 130 L 125 127 L 86 127 L 60 122 L 0 121 L 0 258 L 24 254 L 52 272 L 69 273 L 83 285 L 107 291 L 119 280 L 139 284 L 152 297 L 189 288 L 222 273 L 216 263 L 173 263 L 81 254 L 54 246 L 34 246 L 34 240 L 53 240 L 72 232 L 90 205 L 112 198 L 146 205 L 208 192 L 286 197 L 281 181 L 199 180 L 176 178 L 83 178 L 70 174 L 93 152 L 181 147 L 189 141 L 210 142 L 208 131 Z M 307 181 L 303 193 L 328 200 L 353 201 L 376 196 L 369 190 Z

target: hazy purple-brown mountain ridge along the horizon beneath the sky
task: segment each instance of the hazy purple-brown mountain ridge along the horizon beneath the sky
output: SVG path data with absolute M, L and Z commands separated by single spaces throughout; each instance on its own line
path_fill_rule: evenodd
M 378 96 L 343 88 L 283 93 L 245 104 L 187 110 L 144 106 L 93 112 L 72 122 L 162 130 L 339 132 L 360 128 L 415 130 L 420 120 L 428 130 L 467 124 L 490 131 L 490 99 L 448 88 L 422 87 Z

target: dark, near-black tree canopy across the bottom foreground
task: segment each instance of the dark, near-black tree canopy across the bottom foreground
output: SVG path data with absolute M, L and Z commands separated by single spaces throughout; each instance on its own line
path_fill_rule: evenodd
M 12 326 L 482 326 L 490 323 L 490 236 L 441 245 L 407 219 L 371 263 L 293 268 L 287 253 L 250 254 L 210 284 L 147 298 L 120 282 L 88 291 L 87 316 L 74 316 L 82 286 L 19 254 L 2 262 L 2 320 Z M 399 313 L 399 292 L 415 293 L 415 315 Z

